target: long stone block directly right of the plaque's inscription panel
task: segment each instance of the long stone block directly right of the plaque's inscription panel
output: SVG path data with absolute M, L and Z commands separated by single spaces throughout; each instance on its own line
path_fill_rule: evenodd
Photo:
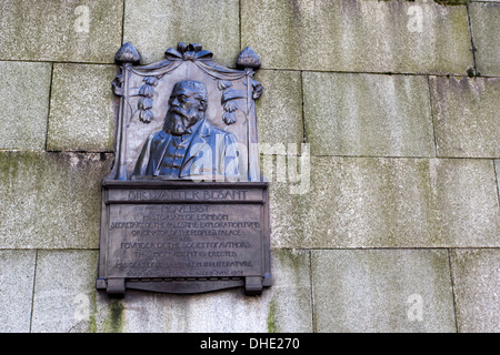
M 271 184 L 273 247 L 499 246 L 489 160 L 311 158 L 310 191 Z

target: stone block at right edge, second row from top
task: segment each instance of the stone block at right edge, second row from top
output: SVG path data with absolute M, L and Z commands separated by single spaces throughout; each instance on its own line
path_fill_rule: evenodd
M 500 78 L 429 80 L 438 156 L 499 158 Z

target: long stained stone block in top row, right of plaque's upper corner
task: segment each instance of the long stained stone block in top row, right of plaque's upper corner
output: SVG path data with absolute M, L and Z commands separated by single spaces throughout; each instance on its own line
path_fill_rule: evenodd
M 242 1 L 241 42 L 267 69 L 464 74 L 473 65 L 466 7 L 423 0 Z

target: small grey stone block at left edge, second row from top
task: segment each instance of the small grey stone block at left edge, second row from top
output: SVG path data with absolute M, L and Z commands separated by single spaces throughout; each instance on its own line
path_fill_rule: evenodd
M 50 75 L 50 63 L 0 62 L 0 149 L 46 148 Z

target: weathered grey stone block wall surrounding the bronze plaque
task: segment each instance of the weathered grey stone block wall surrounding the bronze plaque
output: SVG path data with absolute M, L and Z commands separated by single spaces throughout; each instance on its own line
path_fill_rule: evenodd
M 499 27 L 500 1 L 0 1 L 0 332 L 500 332 Z M 260 55 L 261 296 L 96 291 L 127 41 Z

